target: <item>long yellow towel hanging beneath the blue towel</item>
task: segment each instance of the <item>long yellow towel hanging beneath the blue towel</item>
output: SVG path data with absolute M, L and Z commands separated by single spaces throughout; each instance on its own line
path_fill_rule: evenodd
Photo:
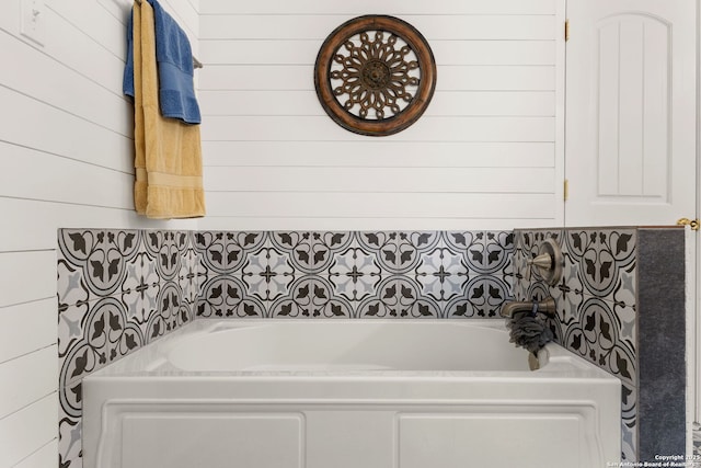
M 134 2 L 134 204 L 154 219 L 205 215 L 199 126 L 161 115 L 153 8 Z

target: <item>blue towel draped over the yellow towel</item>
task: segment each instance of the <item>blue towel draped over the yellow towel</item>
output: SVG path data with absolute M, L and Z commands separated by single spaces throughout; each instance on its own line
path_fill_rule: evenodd
M 193 52 L 185 32 L 157 0 L 148 0 L 156 19 L 156 60 L 158 61 L 159 105 L 163 117 L 199 124 L 202 116 L 193 83 Z M 134 96 L 133 16 L 127 23 L 127 64 L 124 93 Z

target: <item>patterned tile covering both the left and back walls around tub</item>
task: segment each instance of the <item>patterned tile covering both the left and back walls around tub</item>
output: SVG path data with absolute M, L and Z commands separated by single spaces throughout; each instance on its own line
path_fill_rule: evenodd
M 496 318 L 508 231 L 58 231 L 59 465 L 81 381 L 194 318 Z

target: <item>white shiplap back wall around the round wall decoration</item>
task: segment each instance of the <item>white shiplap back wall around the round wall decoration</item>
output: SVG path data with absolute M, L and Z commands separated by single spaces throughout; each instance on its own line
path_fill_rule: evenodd
M 510 229 L 563 221 L 563 0 L 200 1 L 207 229 Z M 390 137 L 334 124 L 323 39 L 360 14 L 428 39 L 424 116 Z

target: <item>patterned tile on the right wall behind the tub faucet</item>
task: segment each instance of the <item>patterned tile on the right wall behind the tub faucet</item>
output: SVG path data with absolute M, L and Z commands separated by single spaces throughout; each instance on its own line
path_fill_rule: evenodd
M 514 296 L 552 296 L 558 316 L 549 321 L 555 341 L 621 379 L 622 459 L 637 460 L 637 332 L 635 229 L 517 230 Z M 545 285 L 529 259 L 553 238 L 564 256 L 563 278 Z

